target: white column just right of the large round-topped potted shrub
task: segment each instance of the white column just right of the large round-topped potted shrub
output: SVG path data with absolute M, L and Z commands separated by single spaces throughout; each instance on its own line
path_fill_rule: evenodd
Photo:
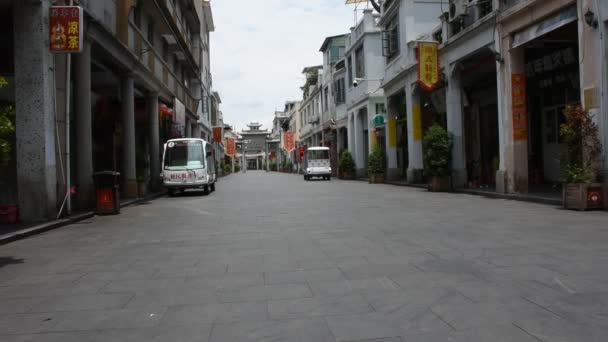
M 452 185 L 455 188 L 462 188 L 467 184 L 467 170 L 464 150 L 462 87 L 458 71 L 455 71 L 448 80 L 447 108 L 448 131 L 453 138 Z

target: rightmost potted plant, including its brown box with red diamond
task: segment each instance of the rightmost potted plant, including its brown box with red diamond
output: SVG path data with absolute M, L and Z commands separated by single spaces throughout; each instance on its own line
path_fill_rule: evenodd
M 563 205 L 566 209 L 601 209 L 604 187 L 597 182 L 602 144 L 593 116 L 580 105 L 567 106 L 560 125 Z

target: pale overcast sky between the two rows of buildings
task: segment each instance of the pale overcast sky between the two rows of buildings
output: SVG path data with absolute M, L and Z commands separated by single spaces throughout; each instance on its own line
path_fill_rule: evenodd
M 347 33 L 354 24 L 354 6 L 344 3 L 213 0 L 211 72 L 224 122 L 238 130 L 250 121 L 270 128 L 275 110 L 300 100 L 302 69 L 322 64 L 325 37 Z

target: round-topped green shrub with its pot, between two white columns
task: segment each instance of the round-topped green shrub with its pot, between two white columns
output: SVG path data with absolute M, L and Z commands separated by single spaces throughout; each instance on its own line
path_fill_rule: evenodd
M 422 140 L 424 172 L 429 177 L 428 189 L 443 192 L 451 189 L 450 162 L 452 138 L 441 126 L 431 126 Z

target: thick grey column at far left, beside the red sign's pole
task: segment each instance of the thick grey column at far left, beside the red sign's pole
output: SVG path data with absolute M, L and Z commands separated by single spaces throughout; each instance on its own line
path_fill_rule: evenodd
M 44 221 L 57 213 L 50 1 L 13 3 L 19 216 L 25 222 Z

